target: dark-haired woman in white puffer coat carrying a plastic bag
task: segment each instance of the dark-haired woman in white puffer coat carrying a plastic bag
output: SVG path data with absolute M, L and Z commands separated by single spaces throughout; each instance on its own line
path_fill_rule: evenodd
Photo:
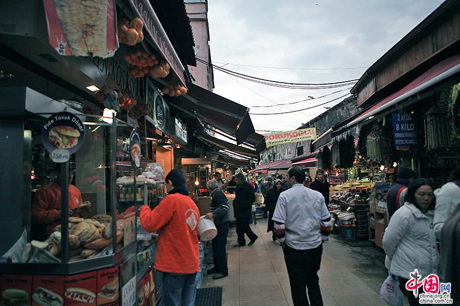
M 405 289 L 409 273 L 418 270 L 422 277 L 438 274 L 439 253 L 432 229 L 434 215 L 433 186 L 426 179 L 410 183 L 404 206 L 392 216 L 383 235 L 388 272 L 399 277 L 400 288 L 405 291 L 409 304 L 419 305 L 412 291 Z M 420 292 L 419 288 L 419 292 Z

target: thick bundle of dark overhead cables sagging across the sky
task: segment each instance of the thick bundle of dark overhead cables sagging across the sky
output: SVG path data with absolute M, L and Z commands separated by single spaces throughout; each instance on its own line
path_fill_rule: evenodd
M 196 59 L 197 61 L 205 64 L 205 65 L 210 65 L 208 62 L 203 61 L 199 58 Z M 343 87 L 343 86 L 349 86 L 349 85 L 354 85 L 359 79 L 356 80 L 348 80 L 348 81 L 342 81 L 342 82 L 334 82 L 334 83 L 289 83 L 289 82 L 279 82 L 279 81 L 271 81 L 271 80 L 266 80 L 266 79 L 261 79 L 261 78 L 256 78 L 256 77 L 251 77 L 250 75 L 238 73 L 235 71 L 231 71 L 225 68 L 221 68 L 219 66 L 216 66 L 212 64 L 214 69 L 217 69 L 219 71 L 222 71 L 224 73 L 233 75 L 234 77 L 241 78 L 243 80 L 263 84 L 263 85 L 269 85 L 269 86 L 275 86 L 275 87 L 282 87 L 282 88 L 290 88 L 290 89 L 329 89 L 329 88 L 337 88 L 337 87 Z

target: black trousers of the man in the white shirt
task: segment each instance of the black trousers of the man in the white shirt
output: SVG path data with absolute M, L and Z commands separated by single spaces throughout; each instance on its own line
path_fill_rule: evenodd
M 323 245 L 308 250 L 297 250 L 285 245 L 283 252 L 294 306 L 309 306 L 308 300 L 312 306 L 323 306 L 317 274 Z

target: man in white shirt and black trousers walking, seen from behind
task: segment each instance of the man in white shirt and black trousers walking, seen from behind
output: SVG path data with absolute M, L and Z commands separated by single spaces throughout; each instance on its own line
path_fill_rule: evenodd
M 301 167 L 289 168 L 286 179 L 288 189 L 280 194 L 272 220 L 283 246 L 292 301 L 294 306 L 322 306 L 317 272 L 323 242 L 331 231 L 331 215 L 323 195 L 303 185 L 305 173 Z

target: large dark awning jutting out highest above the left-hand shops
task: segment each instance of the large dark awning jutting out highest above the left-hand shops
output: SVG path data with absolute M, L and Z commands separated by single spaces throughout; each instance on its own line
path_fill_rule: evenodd
M 265 138 L 254 130 L 249 108 L 190 82 L 187 88 L 186 95 L 169 99 L 174 106 L 194 113 L 200 120 L 235 137 L 237 144 L 246 142 L 259 152 L 266 148 Z

